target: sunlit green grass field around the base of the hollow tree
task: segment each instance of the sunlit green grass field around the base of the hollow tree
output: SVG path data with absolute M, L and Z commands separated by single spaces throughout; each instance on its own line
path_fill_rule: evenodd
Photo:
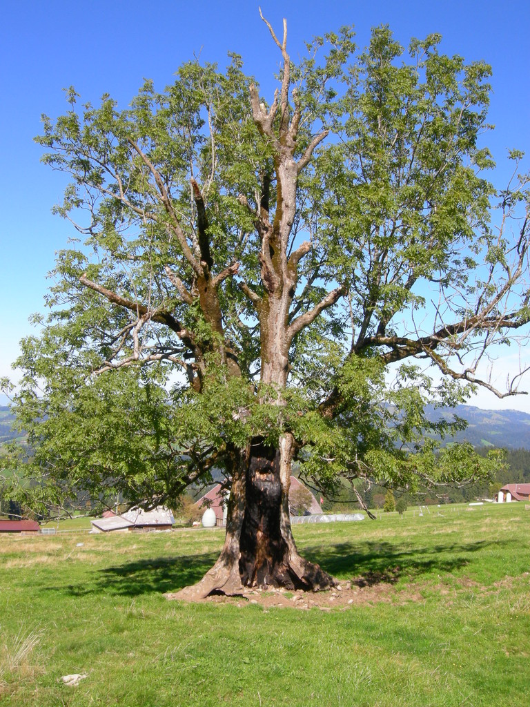
M 296 526 L 307 557 L 366 579 L 329 611 L 168 602 L 219 530 L 1 537 L 0 703 L 526 707 L 529 530 L 524 503 Z

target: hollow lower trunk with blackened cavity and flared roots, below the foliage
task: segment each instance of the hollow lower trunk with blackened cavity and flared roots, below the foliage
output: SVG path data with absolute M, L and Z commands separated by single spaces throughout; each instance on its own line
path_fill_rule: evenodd
M 250 588 L 319 591 L 334 585 L 329 574 L 296 549 L 288 499 L 293 446 L 293 437 L 285 434 L 278 448 L 254 438 L 246 450 L 233 450 L 223 551 L 198 584 L 172 598 L 243 595 Z

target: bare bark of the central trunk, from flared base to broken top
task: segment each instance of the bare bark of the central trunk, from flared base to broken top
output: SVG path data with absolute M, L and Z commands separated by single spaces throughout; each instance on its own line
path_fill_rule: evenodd
M 298 248 L 289 259 L 288 243 L 297 208 L 298 174 L 307 165 L 312 151 L 326 136 L 322 132 L 307 147 L 297 162 L 300 107 L 295 107 L 289 123 L 288 94 L 290 63 L 286 52 L 286 26 L 280 44 L 267 23 L 271 35 L 283 55 L 281 94 L 276 93 L 269 110 L 259 100 L 254 86 L 250 89 L 252 115 L 259 132 L 269 139 L 274 152 L 276 173 L 276 208 L 273 218 L 269 210 L 270 176 L 263 182 L 257 231 L 261 240 L 259 262 L 263 295 L 252 293 L 243 284 L 259 314 L 261 336 L 261 383 L 268 402 L 281 406 L 280 392 L 285 390 L 289 374 L 289 349 L 293 337 L 309 325 L 322 310 L 333 305 L 343 293 L 337 288 L 319 305 L 289 325 L 289 311 L 298 281 L 298 262 L 310 250 L 310 243 Z M 279 111 L 278 129 L 275 118 Z M 196 199 L 200 197 L 196 189 Z M 198 208 L 201 204 L 198 204 Z M 202 208 L 202 207 L 201 207 Z M 200 228 L 199 228 L 200 230 Z M 204 249 L 203 249 L 204 250 Z M 209 254 L 209 252 L 208 252 Z M 206 255 L 208 255 L 206 254 Z M 202 259 L 206 262 L 206 256 Z M 211 267 L 208 267 L 208 273 Z M 208 297 L 206 281 L 199 288 L 201 307 L 213 312 L 208 318 L 215 331 L 222 332 L 220 309 L 216 310 Z M 214 303 L 218 306 L 218 299 Z M 206 309 L 205 309 L 206 308 Z M 228 361 L 227 361 L 228 363 Z M 278 395 L 276 395 L 278 391 Z M 296 549 L 289 520 L 290 472 L 295 440 L 283 433 L 278 447 L 266 445 L 264 438 L 255 437 L 245 450 L 233 450 L 232 490 L 228 504 L 228 524 L 223 551 L 216 564 L 194 587 L 176 595 L 177 599 L 198 600 L 208 595 L 244 594 L 247 588 L 286 588 L 305 590 L 329 589 L 335 580 L 314 563 L 303 559 Z

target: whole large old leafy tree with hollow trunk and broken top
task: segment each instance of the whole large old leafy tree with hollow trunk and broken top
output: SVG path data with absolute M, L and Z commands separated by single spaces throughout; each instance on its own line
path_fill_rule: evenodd
M 222 470 L 225 544 L 190 597 L 333 583 L 291 534 L 295 458 L 324 492 L 487 473 L 467 445 L 437 450 L 460 422 L 424 406 L 493 390 L 479 364 L 529 322 L 527 180 L 497 194 L 483 176 L 490 68 L 437 35 L 404 60 L 387 27 L 294 64 L 285 22 L 282 40 L 266 24 L 271 103 L 230 55 L 163 93 L 146 81 L 126 110 L 71 89 L 38 139 L 84 239 L 17 362 L 19 491 L 155 506 Z

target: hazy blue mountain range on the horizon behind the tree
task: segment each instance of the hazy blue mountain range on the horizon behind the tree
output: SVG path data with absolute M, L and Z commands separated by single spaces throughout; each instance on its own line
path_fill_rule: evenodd
M 482 410 L 471 405 L 458 405 L 440 413 L 440 410 L 428 408 L 431 420 L 454 414 L 464 418 L 468 426 L 454 436 L 454 441 L 469 441 L 473 447 L 505 447 L 507 449 L 524 448 L 530 450 L 530 415 L 518 410 Z M 13 415 L 6 405 L 0 406 L 0 443 L 16 436 L 11 430 Z M 446 441 L 448 441 L 446 439 Z

